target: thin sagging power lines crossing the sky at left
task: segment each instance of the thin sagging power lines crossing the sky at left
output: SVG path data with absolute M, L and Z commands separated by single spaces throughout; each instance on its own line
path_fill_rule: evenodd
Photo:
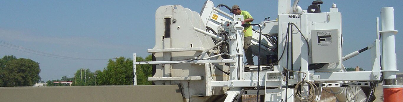
M 35 55 L 42 55 L 42 56 L 46 56 L 46 57 L 53 57 L 53 58 L 59 58 L 59 59 L 70 59 L 70 60 L 108 60 L 108 59 L 87 59 L 87 58 L 77 58 L 77 57 L 55 55 L 55 54 L 46 53 L 46 52 L 42 52 L 42 51 L 36 51 L 36 50 L 33 50 L 33 49 L 27 49 L 27 48 L 24 48 L 24 47 L 21 47 L 21 46 L 6 43 L 4 41 L 0 41 L 0 43 L 8 45 L 8 46 L 0 45 L 0 46 L 3 46 L 3 47 L 7 47 L 7 48 L 10 48 L 10 49 L 15 49 L 15 50 L 18 50 L 18 51 L 23 51 L 23 52 L 26 52 L 26 53 L 32 53 L 32 54 L 35 54 Z M 19 48 L 19 49 L 17 49 L 17 48 Z M 24 49 L 25 51 L 21 50 L 21 49 Z

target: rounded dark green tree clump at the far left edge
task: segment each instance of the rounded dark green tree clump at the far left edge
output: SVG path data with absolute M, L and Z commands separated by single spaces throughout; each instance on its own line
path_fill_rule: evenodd
M 4 86 L 33 86 L 41 80 L 39 63 L 25 58 L 7 61 L 3 70 Z

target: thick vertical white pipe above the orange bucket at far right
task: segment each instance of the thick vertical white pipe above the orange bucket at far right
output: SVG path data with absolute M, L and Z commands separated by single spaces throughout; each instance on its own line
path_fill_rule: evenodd
M 395 52 L 395 18 L 393 7 L 381 9 L 382 18 L 382 69 L 385 70 L 384 79 L 396 79 L 396 52 Z M 390 70 L 390 71 L 388 71 Z

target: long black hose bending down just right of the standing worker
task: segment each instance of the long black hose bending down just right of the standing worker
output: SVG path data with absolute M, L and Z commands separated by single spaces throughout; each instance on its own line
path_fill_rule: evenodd
M 259 80 L 260 80 L 260 78 L 259 78 L 260 77 L 260 47 L 261 47 L 260 42 L 262 41 L 262 27 L 259 24 L 242 24 L 242 26 L 257 26 L 257 27 L 259 27 L 258 88 L 256 88 L 258 90 L 256 101 L 258 102 L 259 101 L 259 89 L 260 89 L 260 83 L 259 83 Z

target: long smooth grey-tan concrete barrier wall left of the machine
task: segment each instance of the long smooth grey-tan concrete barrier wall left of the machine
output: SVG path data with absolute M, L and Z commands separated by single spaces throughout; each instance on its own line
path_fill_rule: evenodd
M 0 102 L 183 102 L 177 85 L 0 87 Z

